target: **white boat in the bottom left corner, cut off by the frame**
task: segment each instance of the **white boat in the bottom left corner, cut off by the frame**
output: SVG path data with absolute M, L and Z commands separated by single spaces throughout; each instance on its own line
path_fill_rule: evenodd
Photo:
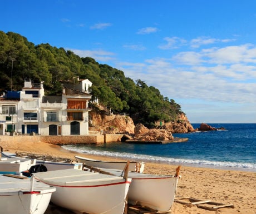
M 56 188 L 34 181 L 0 175 L 0 213 L 43 214 Z

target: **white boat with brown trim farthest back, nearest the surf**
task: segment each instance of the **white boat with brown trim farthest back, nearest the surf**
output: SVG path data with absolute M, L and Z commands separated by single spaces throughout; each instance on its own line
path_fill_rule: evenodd
M 97 167 L 97 168 L 116 168 L 117 170 L 124 170 L 127 162 L 114 162 L 114 161 L 100 161 L 91 158 L 75 156 L 78 161 L 84 163 L 87 166 Z M 144 162 L 130 162 L 129 169 L 130 171 L 140 172 L 144 171 Z

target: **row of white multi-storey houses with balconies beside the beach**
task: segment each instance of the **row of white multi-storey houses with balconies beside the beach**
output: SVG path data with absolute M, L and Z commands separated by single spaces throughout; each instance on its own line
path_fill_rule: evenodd
M 62 96 L 45 96 L 42 83 L 25 79 L 16 98 L 0 98 L 0 135 L 11 130 L 25 135 L 88 135 L 91 84 L 83 79 L 77 89 L 63 87 Z

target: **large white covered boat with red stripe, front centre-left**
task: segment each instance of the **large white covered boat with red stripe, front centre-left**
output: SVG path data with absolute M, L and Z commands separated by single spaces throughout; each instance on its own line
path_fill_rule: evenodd
M 82 170 L 34 174 L 38 181 L 56 187 L 51 202 L 75 213 L 122 214 L 131 178 Z

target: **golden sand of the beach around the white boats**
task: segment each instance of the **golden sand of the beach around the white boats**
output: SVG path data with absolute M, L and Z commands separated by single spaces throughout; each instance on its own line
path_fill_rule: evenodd
M 74 158 L 77 155 L 77 153 L 66 151 L 60 146 L 42 142 L 0 142 L 0 146 L 8 152 L 31 152 L 67 158 Z M 100 160 L 117 160 L 105 156 L 96 157 L 83 154 L 79 154 L 79 156 Z M 176 167 L 160 163 L 146 163 L 144 173 L 173 175 Z M 176 192 L 177 198 L 193 197 L 201 200 L 233 203 L 234 208 L 219 208 L 218 211 L 209 211 L 195 205 L 182 205 L 174 202 L 170 210 L 171 213 L 256 213 L 256 173 L 181 166 L 180 175 Z

